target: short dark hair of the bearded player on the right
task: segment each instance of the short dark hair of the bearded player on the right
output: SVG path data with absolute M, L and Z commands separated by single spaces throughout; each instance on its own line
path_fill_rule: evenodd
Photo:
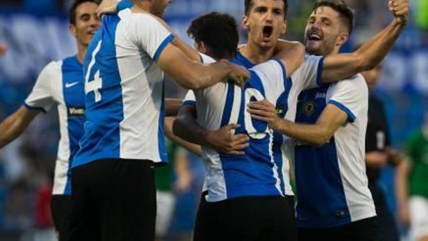
M 316 11 L 320 7 L 331 7 L 339 13 L 340 18 L 348 28 L 349 35 L 354 30 L 354 19 L 355 11 L 349 7 L 343 0 L 319 0 L 315 3 L 313 11 Z

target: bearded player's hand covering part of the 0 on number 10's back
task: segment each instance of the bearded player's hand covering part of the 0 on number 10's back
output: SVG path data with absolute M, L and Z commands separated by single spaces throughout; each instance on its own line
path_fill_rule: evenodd
M 250 112 L 251 118 L 267 122 L 271 129 L 279 129 L 281 118 L 278 116 L 275 106 L 267 99 L 252 101 L 247 107 L 247 111 Z

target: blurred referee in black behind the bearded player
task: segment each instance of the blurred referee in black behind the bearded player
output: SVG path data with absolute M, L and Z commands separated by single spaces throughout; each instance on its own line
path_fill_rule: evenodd
M 369 87 L 369 118 L 367 122 L 366 134 L 366 167 L 369 178 L 369 189 L 375 201 L 376 213 L 379 222 L 380 241 L 399 241 L 398 228 L 389 209 L 385 193 L 378 185 L 380 170 L 388 164 L 398 165 L 402 160 L 402 155 L 391 149 L 391 139 L 388 130 L 388 122 L 383 103 L 373 95 L 373 90 L 379 80 L 382 66 L 363 72 Z

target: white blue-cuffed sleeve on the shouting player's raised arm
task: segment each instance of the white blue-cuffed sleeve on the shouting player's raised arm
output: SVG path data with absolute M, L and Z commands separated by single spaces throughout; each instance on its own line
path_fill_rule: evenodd
M 302 69 L 300 70 L 300 80 L 302 90 L 313 89 L 321 86 L 322 64 L 324 57 L 306 55 Z

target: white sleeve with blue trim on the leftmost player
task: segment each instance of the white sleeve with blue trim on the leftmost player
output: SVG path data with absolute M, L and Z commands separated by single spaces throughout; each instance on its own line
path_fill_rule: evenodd
M 28 109 L 47 112 L 54 105 L 55 100 L 52 94 L 52 82 L 58 78 L 55 63 L 48 64 L 38 75 L 36 84 L 30 95 L 25 100 L 25 107 Z

